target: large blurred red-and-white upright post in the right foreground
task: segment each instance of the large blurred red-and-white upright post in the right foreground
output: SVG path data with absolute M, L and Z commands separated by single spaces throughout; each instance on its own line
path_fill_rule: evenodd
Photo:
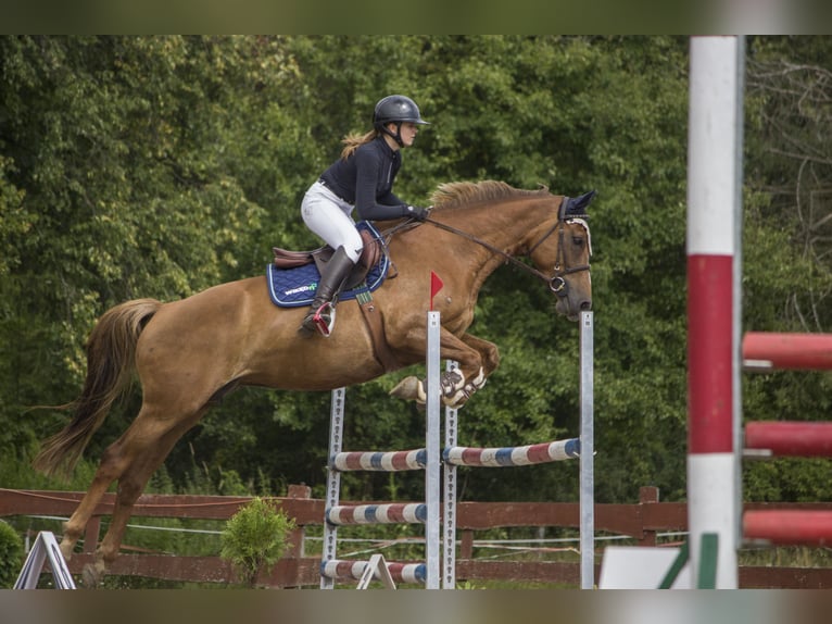
M 688 160 L 688 521 L 692 579 L 703 534 L 716 586 L 738 587 L 742 42 L 692 37 Z M 739 421 L 738 421 L 739 423 Z

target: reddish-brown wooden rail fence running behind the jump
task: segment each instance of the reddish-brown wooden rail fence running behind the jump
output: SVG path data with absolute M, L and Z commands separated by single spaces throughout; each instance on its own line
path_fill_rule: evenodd
M 84 492 L 0 489 L 0 517 L 12 515 L 68 516 Z M 597 534 L 627 536 L 642 546 L 655 546 L 663 532 L 688 529 L 685 503 L 659 502 L 658 490 L 641 488 L 638 503 L 596 503 Z M 84 552 L 70 561 L 73 574 L 79 574 L 92 561 L 92 550 L 99 539 L 101 517 L 112 513 L 114 495 L 108 494 L 96 509 L 84 538 Z M 175 517 L 191 520 L 227 520 L 251 500 L 249 497 L 143 495 L 134 510 L 135 517 Z M 287 497 L 277 498 L 281 509 L 295 520 L 287 556 L 270 574 L 257 583 L 264 587 L 302 587 L 319 584 L 319 558 L 304 553 L 307 526 L 322 525 L 322 499 L 310 498 L 305 486 L 290 486 Z M 751 509 L 802 509 L 832 511 L 832 503 L 746 503 Z M 580 586 L 579 562 L 492 561 L 474 558 L 475 535 L 478 531 L 496 527 L 580 527 L 578 503 L 567 502 L 459 502 L 457 529 L 458 579 L 502 579 Z M 598 549 L 600 552 L 600 549 Z M 162 578 L 194 583 L 230 583 L 235 576 L 230 564 L 218 557 L 180 557 L 153 553 L 123 553 L 111 569 L 112 574 Z M 595 579 L 600 564 L 595 569 Z M 832 588 L 832 569 L 823 567 L 740 567 L 743 588 Z

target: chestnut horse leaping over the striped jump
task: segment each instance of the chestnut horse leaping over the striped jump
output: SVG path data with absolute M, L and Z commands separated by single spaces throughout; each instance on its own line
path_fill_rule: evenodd
M 480 287 L 499 266 L 510 262 L 539 277 L 556 297 L 555 311 L 571 321 L 591 309 L 584 209 L 594 192 L 570 199 L 545 187 L 449 183 L 433 192 L 424 223 L 383 222 L 379 229 L 396 269 L 373 294 L 383 345 L 350 301 L 339 303 L 338 328 L 330 337 L 302 335 L 298 328 L 305 309 L 275 307 L 262 276 L 176 301 L 137 299 L 106 311 L 87 340 L 87 376 L 70 405 L 74 415 L 43 442 L 35 467 L 46 474 L 72 471 L 134 377 L 142 403 L 126 432 L 105 449 L 65 522 L 64 558 L 71 559 L 103 494 L 117 481 L 112 522 L 84 574 L 85 584 L 100 583 L 153 472 L 212 403 L 236 387 L 331 390 L 424 363 L 430 305 L 440 312 L 440 357 L 458 363 L 442 374 L 442 400 L 465 404 L 499 365 L 497 347 L 467 333 Z M 433 274 L 443 282 L 436 302 L 427 295 Z M 425 383 L 409 376 L 391 394 L 424 401 Z

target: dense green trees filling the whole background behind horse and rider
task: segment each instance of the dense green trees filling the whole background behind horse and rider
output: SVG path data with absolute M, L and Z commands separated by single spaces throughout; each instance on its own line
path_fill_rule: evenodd
M 746 40 L 744 323 L 830 330 L 832 41 Z M 596 497 L 643 485 L 685 495 L 688 38 L 520 36 L 0 37 L 0 483 L 85 489 L 128 425 L 136 390 L 93 439 L 77 483 L 27 467 L 66 417 L 96 319 L 127 299 L 174 300 L 264 272 L 270 247 L 318 245 L 306 187 L 402 92 L 432 122 L 396 192 L 501 179 L 597 189 L 591 209 Z M 264 289 L 265 296 L 265 289 Z M 276 313 L 279 313 L 276 311 Z M 471 330 L 501 369 L 461 412 L 471 446 L 578 434 L 578 328 L 510 266 L 487 283 Z M 348 394 L 345 439 L 414 448 L 424 416 Z M 755 420 L 827 420 L 828 374 L 744 378 Z M 329 395 L 242 389 L 175 448 L 165 491 L 324 491 Z M 819 465 L 746 471 L 746 498 L 829 499 Z M 474 500 L 577 500 L 577 465 L 470 471 Z M 421 476 L 344 475 L 344 498 L 418 498 Z

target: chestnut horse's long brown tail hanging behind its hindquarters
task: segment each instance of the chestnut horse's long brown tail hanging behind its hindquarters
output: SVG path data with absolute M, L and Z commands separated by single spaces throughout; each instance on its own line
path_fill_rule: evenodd
M 110 309 L 87 341 L 87 378 L 80 396 L 62 409 L 75 411 L 72 422 L 47 439 L 33 465 L 47 475 L 68 475 L 113 402 L 136 369 L 136 344 L 162 303 L 137 299 Z

